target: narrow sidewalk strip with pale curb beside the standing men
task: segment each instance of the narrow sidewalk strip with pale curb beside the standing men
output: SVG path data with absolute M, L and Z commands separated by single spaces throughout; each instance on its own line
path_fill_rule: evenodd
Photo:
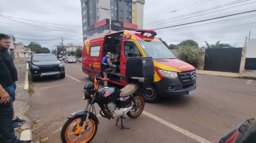
M 32 130 L 31 130 L 31 121 L 24 114 L 29 110 L 30 106 L 28 104 L 28 74 L 27 72 L 27 63 L 22 61 L 14 61 L 15 67 L 18 73 L 18 81 L 16 81 L 16 100 L 14 106 L 14 112 L 16 116 L 26 120 L 26 123 L 21 124 L 22 127 L 15 131 L 15 135 L 20 140 L 32 140 Z

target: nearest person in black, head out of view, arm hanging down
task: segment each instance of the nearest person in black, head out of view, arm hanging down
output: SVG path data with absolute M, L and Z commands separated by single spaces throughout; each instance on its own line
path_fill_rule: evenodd
M 0 40 L 1 42 L 1 40 Z M 13 129 L 13 108 L 11 93 L 12 87 L 10 72 L 0 57 L 0 142 L 1 143 L 31 143 L 31 140 L 18 140 Z

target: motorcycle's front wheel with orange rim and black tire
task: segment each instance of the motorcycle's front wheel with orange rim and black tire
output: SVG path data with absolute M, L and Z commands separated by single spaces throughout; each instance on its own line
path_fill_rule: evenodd
M 87 143 L 90 142 L 95 136 L 98 124 L 95 119 L 88 118 L 86 123 L 82 120 L 82 116 L 77 116 L 75 118 L 69 119 L 62 127 L 61 130 L 61 140 L 63 143 Z M 86 124 L 82 130 L 82 124 Z

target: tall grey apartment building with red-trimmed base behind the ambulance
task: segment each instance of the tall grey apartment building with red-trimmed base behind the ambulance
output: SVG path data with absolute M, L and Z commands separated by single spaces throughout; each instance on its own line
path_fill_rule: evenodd
M 144 0 L 81 0 L 83 40 L 109 32 L 142 28 L 144 3 Z M 141 16 L 142 20 L 138 20 Z

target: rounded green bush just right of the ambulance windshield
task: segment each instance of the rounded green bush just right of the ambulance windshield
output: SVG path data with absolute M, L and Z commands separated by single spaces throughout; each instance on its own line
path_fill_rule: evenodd
M 178 46 L 178 59 L 197 67 L 202 62 L 201 56 L 205 54 L 204 49 L 196 46 Z

